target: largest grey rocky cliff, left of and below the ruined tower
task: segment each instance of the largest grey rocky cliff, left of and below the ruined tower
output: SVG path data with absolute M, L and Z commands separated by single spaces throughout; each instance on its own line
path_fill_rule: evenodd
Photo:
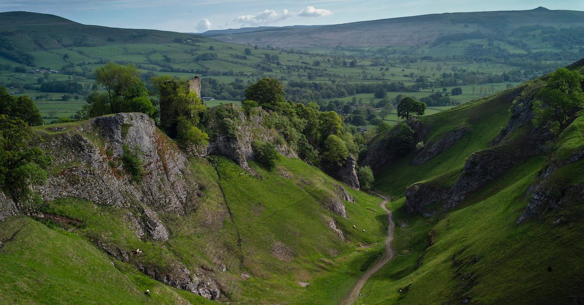
M 190 192 L 197 185 L 183 175 L 189 171 L 187 159 L 180 150 L 172 149 L 172 141 L 147 115 L 97 117 L 79 131 L 48 137 L 41 144 L 55 168 L 62 168 L 37 186 L 43 200 L 79 197 L 117 207 L 141 202 L 154 210 L 179 214 L 190 205 Z M 95 138 L 96 143 L 88 138 Z M 124 172 L 124 146 L 140 156 L 145 170 L 140 183 L 131 182 Z

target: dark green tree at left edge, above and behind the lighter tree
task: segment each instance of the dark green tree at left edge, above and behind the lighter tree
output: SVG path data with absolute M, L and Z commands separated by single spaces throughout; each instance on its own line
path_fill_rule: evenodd
M 0 115 L 20 117 L 33 126 L 43 124 L 43 117 L 32 99 L 25 95 L 15 98 L 4 87 L 0 87 Z

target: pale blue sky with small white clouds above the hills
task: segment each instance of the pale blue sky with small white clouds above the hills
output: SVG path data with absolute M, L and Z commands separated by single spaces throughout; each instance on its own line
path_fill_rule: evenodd
M 0 12 L 48 13 L 86 25 L 195 33 L 538 6 L 584 11 L 584 0 L 0 0 Z

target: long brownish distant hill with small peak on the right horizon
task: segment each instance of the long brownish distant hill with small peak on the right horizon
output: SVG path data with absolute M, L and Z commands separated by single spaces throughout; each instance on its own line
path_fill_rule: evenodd
M 442 13 L 300 29 L 256 30 L 215 38 L 231 43 L 295 48 L 416 46 L 447 36 L 453 36 L 452 40 L 512 37 L 536 45 L 542 41 L 532 38 L 533 34 L 578 27 L 584 27 L 584 12 L 540 7 L 530 11 Z M 582 30 L 568 36 L 582 39 Z

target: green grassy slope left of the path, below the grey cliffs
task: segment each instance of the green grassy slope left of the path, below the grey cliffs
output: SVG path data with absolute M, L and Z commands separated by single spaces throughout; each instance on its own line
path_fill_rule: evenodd
M 71 131 L 82 123 L 60 125 Z M 85 136 L 93 143 L 100 141 Z M 0 273 L 0 303 L 19 299 L 22 303 L 85 303 L 86 299 L 100 300 L 96 295 L 106 293 L 101 300 L 107 303 L 174 303 L 182 297 L 197 304 L 201 298 L 147 278 L 137 268 L 167 272 L 183 264 L 213 277 L 220 286 L 221 301 L 336 304 L 370 264 L 371 255 L 383 247 L 381 199 L 345 186 L 356 199 L 345 202 L 348 218 L 330 212 L 325 206 L 329 198 L 338 196 L 339 182 L 301 160 L 282 158 L 272 171 L 250 162 L 260 178 L 223 157 L 192 158 L 190 165 L 190 178 L 201 185 L 201 194 L 196 208 L 184 215 L 161 214 L 171 232 L 165 242 L 135 235 L 134 224 L 126 217 L 134 209 L 131 205 L 106 207 L 75 198 L 45 202 L 39 208 L 44 217 L 15 217 L 0 224 L 4 242 L 0 264 L 9 271 Z M 64 164 L 51 172 L 75 166 Z M 332 220 L 346 241 L 329 228 Z M 27 230 L 11 239 L 11 230 L 18 230 L 21 223 L 27 224 Z M 124 263 L 99 249 L 104 247 L 113 255 L 137 248 L 142 253 L 130 254 Z M 43 251 L 35 252 L 39 248 Z M 61 266 L 69 260 L 74 264 Z M 26 276 L 19 279 L 20 273 Z M 82 293 L 68 297 L 65 294 L 70 290 L 61 289 L 47 297 L 22 294 L 35 289 L 34 278 L 39 275 L 51 292 L 65 285 Z M 14 286 L 15 282 L 20 286 Z M 310 285 L 303 287 L 299 282 Z M 116 290 L 107 290 L 108 286 Z M 144 296 L 145 289 L 152 294 Z

